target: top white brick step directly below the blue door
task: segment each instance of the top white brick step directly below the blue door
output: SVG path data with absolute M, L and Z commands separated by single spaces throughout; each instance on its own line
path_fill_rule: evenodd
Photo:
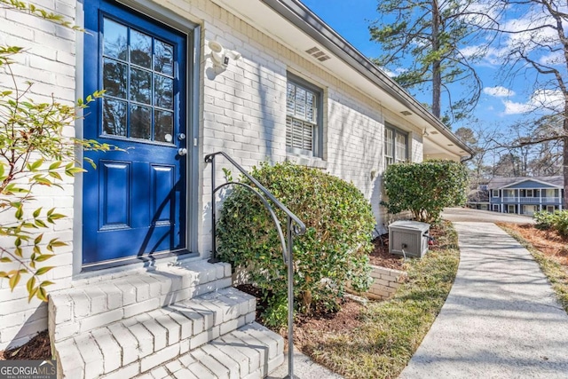
M 50 295 L 51 342 L 130 319 L 220 288 L 231 287 L 231 265 L 193 261 L 132 270 L 74 283 Z

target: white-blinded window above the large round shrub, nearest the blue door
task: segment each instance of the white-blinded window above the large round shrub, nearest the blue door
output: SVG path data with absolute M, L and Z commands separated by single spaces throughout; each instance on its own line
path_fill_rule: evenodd
M 288 153 L 321 157 L 321 89 L 288 73 L 286 147 Z

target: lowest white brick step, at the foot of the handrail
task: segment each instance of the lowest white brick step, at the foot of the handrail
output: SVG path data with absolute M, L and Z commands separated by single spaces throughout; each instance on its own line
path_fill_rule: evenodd
M 136 378 L 258 379 L 283 362 L 284 339 L 254 322 Z

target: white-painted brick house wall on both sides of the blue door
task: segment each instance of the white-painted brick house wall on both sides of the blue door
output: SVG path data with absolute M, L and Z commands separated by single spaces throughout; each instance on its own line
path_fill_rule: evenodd
M 422 160 L 421 130 L 405 123 L 397 114 L 368 98 L 349 83 L 344 83 L 319 67 L 315 59 L 306 59 L 295 51 L 266 36 L 247 21 L 221 9 L 210 0 L 155 0 L 179 17 L 201 25 L 201 77 L 199 124 L 199 184 L 200 209 L 198 218 L 198 249 L 203 257 L 210 250 L 210 168 L 202 158 L 205 154 L 225 151 L 245 169 L 258 162 L 294 160 L 327 170 L 333 175 L 352 181 L 373 205 L 379 224 L 383 216 L 378 208 L 382 198 L 381 173 L 383 172 L 383 126 L 388 121 L 411 133 L 410 154 L 413 161 Z M 74 0 L 36 0 L 34 4 L 61 12 L 68 19 L 75 17 Z M 0 9 L 0 43 L 28 47 L 25 56 L 13 67 L 19 80 L 36 82 L 31 91 L 35 99 L 47 100 L 53 96 L 59 101 L 75 100 L 75 80 L 82 75 L 82 67 L 75 67 L 75 33 L 27 15 Z M 225 49 L 239 51 L 242 59 L 232 60 L 223 72 L 215 71 L 209 59 L 207 43 L 215 40 Z M 300 75 L 324 91 L 324 160 L 290 156 L 285 146 L 286 81 L 287 72 Z M 9 78 L 0 74 L 0 85 L 10 86 Z M 75 130 L 68 128 L 67 136 Z M 217 183 L 221 183 L 222 167 L 217 164 Z M 63 190 L 48 190 L 37 196 L 40 206 L 59 209 L 72 216 L 74 212 L 74 184 L 69 181 Z M 78 191 L 80 193 L 80 191 Z M 78 201 L 77 201 L 78 202 Z M 80 211 L 80 209 L 75 209 Z M 0 220 L 1 221 L 1 220 Z M 79 232 L 79 231 L 75 231 Z M 61 220 L 48 231 L 45 239 L 58 237 L 68 243 L 59 249 L 57 268 L 48 277 L 58 282 L 57 287 L 69 285 L 73 275 L 73 224 Z M 80 233 L 78 234 L 80 235 Z M 75 237 L 76 238 L 76 237 Z M 4 240 L 0 240 L 4 241 Z M 80 243 L 80 241 L 75 241 Z M 80 258 L 75 257 L 80 262 Z M 48 261 L 49 262 L 49 261 Z M 45 312 L 37 302 L 22 304 L 25 294 L 15 291 L 8 294 L 5 280 L 0 280 L 0 298 L 11 298 L 14 308 L 9 314 L 0 314 L 0 323 L 12 327 L 0 332 L 0 349 L 27 336 L 22 331 L 41 330 L 47 327 Z M 37 313 L 36 313 L 37 311 Z M 25 328 L 17 324 L 37 314 Z M 30 329 L 31 328 L 31 329 Z

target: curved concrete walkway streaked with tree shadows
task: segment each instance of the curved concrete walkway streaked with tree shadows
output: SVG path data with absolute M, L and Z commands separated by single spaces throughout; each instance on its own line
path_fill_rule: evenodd
M 399 377 L 568 378 L 568 316 L 533 257 L 494 224 L 454 225 L 454 286 Z

